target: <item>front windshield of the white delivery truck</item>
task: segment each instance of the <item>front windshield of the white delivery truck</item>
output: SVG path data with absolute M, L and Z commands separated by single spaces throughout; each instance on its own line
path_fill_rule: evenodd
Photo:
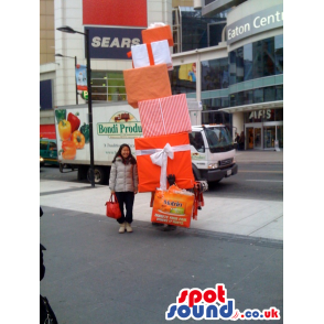
M 234 150 L 230 133 L 226 127 L 204 128 L 212 153 Z

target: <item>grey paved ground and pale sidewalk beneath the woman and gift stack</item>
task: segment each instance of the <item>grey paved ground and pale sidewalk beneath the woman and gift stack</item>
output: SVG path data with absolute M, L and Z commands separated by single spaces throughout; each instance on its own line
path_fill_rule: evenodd
M 236 160 L 282 163 L 283 152 L 239 151 Z M 283 323 L 282 202 L 208 196 L 191 228 L 169 230 L 151 225 L 150 194 L 138 194 L 134 231 L 120 235 L 105 216 L 109 195 L 107 186 L 40 182 L 41 293 L 58 323 L 165 323 L 181 289 L 217 283 L 239 311 L 277 307 Z

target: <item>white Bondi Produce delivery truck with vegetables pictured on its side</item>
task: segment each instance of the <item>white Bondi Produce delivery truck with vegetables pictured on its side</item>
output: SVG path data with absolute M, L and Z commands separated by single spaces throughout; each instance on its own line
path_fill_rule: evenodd
M 55 108 L 55 130 L 60 171 L 69 165 L 77 169 L 78 180 L 89 180 L 88 105 Z M 118 148 L 128 143 L 136 152 L 134 138 L 142 137 L 139 110 L 127 102 L 93 104 L 93 132 L 95 183 L 107 184 Z M 218 182 L 237 173 L 235 149 L 225 126 L 193 126 L 190 142 L 196 180 Z

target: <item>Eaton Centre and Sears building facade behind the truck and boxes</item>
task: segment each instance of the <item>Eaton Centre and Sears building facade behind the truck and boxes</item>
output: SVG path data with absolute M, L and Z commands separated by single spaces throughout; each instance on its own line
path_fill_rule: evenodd
M 75 86 L 75 64 L 86 65 L 84 36 L 57 28 L 89 29 L 93 100 L 119 101 L 127 100 L 122 71 L 132 67 L 130 45 L 142 42 L 150 23 L 164 22 L 174 37 L 172 93 L 202 102 L 198 122 L 225 123 L 233 137 L 245 132 L 246 149 L 283 148 L 282 0 L 115 2 L 54 0 L 55 54 L 64 57 L 40 68 L 43 86 L 52 89 L 41 128 L 53 107 L 85 102 Z

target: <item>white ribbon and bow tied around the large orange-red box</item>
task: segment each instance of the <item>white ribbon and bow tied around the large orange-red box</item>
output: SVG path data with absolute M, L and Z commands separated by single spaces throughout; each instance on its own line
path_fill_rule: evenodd
M 150 154 L 152 163 L 161 166 L 160 187 L 165 191 L 168 158 L 173 160 L 174 152 L 182 152 L 182 151 L 190 151 L 190 150 L 191 150 L 190 144 L 171 147 L 169 143 L 166 143 L 163 149 L 137 150 L 136 154 L 137 156 Z

